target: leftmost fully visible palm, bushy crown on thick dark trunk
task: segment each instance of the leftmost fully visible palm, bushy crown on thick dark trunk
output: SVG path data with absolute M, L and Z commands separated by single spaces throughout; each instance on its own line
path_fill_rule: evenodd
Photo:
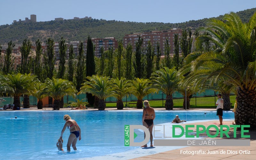
M 35 90 L 35 86 L 32 83 L 34 77 L 28 75 L 22 75 L 20 73 L 7 75 L 6 84 L 9 86 L 7 91 L 10 95 L 13 96 L 13 104 L 16 107 L 20 107 L 20 96 L 23 94 L 29 94 L 31 91 Z

